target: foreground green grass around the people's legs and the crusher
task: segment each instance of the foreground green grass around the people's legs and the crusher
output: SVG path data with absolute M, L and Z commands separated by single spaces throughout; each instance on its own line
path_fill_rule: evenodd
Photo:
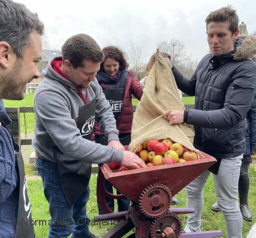
M 249 207 L 253 213 L 252 222 L 243 220 L 243 229 L 242 229 L 242 237 L 246 237 L 251 226 L 256 221 L 256 205 L 255 205 L 255 197 L 256 197 L 256 173 L 252 168 L 249 168 L 250 175 L 250 190 L 249 190 Z M 28 181 L 29 194 L 32 204 L 32 214 L 33 219 L 50 219 L 48 202 L 45 199 L 43 194 L 43 185 L 40 180 L 29 180 Z M 97 215 L 97 202 L 96 202 L 96 176 L 92 176 L 90 180 L 90 200 L 87 203 L 87 212 L 91 220 L 93 220 L 93 216 Z M 176 207 L 186 207 L 186 193 L 185 190 L 182 189 L 178 194 L 175 195 L 176 198 L 179 199 L 179 204 Z M 202 214 L 202 231 L 206 230 L 221 230 L 223 233 L 222 237 L 226 237 L 225 232 L 225 223 L 224 218 L 221 212 L 214 212 L 210 209 L 210 206 L 213 202 L 215 202 L 215 192 L 213 186 L 213 177 L 209 176 L 209 179 L 204 188 L 204 209 Z M 179 215 L 182 219 L 183 227 L 185 227 L 187 215 Z M 103 236 L 112 226 L 111 225 L 91 225 L 90 230 L 98 235 Z M 49 226 L 36 225 L 36 237 L 47 237 Z

